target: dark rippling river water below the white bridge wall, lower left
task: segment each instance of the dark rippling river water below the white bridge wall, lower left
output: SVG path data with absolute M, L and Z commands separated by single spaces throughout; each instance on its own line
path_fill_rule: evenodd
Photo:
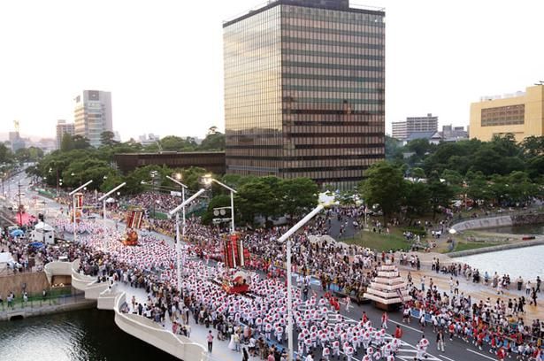
M 173 361 L 177 358 L 126 334 L 113 312 L 72 311 L 0 322 L 1 361 Z

